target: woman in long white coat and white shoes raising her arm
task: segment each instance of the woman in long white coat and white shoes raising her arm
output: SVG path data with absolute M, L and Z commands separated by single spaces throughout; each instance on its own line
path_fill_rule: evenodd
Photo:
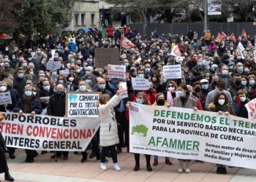
M 111 157 L 113 159 L 114 169 L 120 171 L 121 168 L 117 163 L 116 154 L 116 144 L 119 143 L 118 140 L 118 130 L 114 107 L 120 102 L 120 91 L 116 91 L 116 95 L 110 99 L 110 95 L 103 94 L 99 98 L 99 119 L 100 119 L 100 132 L 99 141 L 100 146 L 102 146 L 101 151 L 101 169 L 107 170 L 105 165 L 105 157 L 108 151 L 110 151 Z

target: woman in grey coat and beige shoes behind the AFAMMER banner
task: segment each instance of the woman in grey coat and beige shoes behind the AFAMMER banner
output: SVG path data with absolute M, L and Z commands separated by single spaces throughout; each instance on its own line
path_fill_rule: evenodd
M 197 100 L 189 96 L 189 89 L 187 88 L 186 84 L 180 84 L 178 86 L 178 97 L 173 100 L 173 107 L 179 108 L 193 108 L 197 111 Z M 179 168 L 178 173 L 190 173 L 190 161 L 191 160 L 184 160 L 178 159 Z M 184 167 L 184 162 L 186 162 L 186 166 Z

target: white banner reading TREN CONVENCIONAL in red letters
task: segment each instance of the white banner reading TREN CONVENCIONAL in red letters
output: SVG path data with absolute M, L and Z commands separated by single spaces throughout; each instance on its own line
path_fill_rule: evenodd
M 97 118 L 1 113 L 0 132 L 8 147 L 42 151 L 85 151 L 99 128 Z

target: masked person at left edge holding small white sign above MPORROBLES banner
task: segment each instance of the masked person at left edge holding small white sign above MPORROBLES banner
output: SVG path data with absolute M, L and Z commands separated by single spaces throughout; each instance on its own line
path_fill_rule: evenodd
M 0 92 L 10 92 L 11 99 L 12 99 L 12 103 L 0 105 L 0 112 L 12 111 L 12 109 L 15 107 L 17 102 L 15 92 L 13 92 L 12 89 L 7 88 L 7 82 L 0 82 Z M 14 154 L 15 148 L 8 147 L 7 149 L 8 149 L 10 158 L 15 159 L 15 154 Z

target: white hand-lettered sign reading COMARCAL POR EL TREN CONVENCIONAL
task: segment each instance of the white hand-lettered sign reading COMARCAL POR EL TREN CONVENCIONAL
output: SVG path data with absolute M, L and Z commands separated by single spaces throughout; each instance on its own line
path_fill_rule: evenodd
M 67 92 L 67 117 L 99 117 L 98 104 L 100 92 Z

